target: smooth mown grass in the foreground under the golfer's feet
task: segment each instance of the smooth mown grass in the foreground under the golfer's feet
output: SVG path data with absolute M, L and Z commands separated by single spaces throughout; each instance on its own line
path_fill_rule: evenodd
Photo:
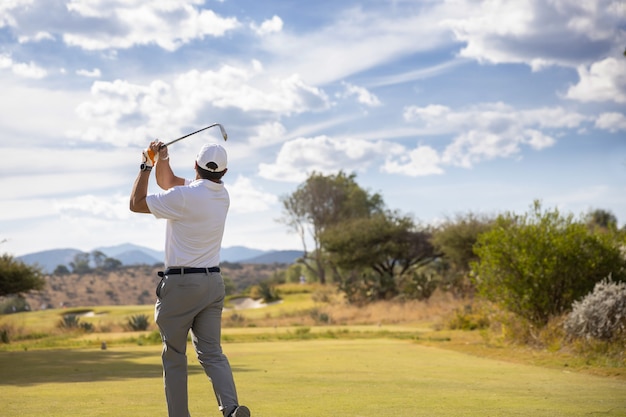
M 391 339 L 227 343 L 254 417 L 624 416 L 626 381 Z M 189 355 L 194 417 L 220 416 Z M 160 346 L 0 352 L 4 417 L 166 416 Z

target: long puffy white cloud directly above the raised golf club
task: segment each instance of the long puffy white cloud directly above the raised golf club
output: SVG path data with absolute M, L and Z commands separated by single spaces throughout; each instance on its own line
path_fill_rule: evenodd
M 191 70 L 171 84 L 156 80 L 148 85 L 128 81 L 96 81 L 92 100 L 77 113 L 89 122 L 86 130 L 68 134 L 86 141 L 119 146 L 145 137 L 175 137 L 173 126 L 193 124 L 207 106 L 244 112 L 271 112 L 278 116 L 319 111 L 330 106 L 323 90 L 299 77 L 269 83 L 262 68 L 252 70 L 223 66 L 217 71 Z M 141 143 L 143 144 L 143 142 Z

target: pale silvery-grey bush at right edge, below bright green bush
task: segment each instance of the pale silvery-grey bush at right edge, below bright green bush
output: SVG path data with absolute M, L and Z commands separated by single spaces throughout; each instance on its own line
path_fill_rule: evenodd
M 568 335 L 608 342 L 626 336 L 626 283 L 606 278 L 572 307 L 564 324 Z

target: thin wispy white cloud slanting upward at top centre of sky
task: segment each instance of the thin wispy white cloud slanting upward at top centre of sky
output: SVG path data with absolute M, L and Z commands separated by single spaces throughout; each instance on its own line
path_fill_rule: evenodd
M 440 25 L 438 3 L 397 14 L 386 7 L 384 12 L 378 7 L 366 9 L 345 6 L 316 30 L 283 30 L 264 38 L 261 47 L 273 57 L 268 64 L 271 71 L 281 76 L 299 74 L 322 85 L 450 42 L 448 29 Z

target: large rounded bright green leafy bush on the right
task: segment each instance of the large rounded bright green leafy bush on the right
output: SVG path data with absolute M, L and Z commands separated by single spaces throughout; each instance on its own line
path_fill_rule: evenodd
M 594 233 L 557 209 L 507 213 L 481 234 L 472 264 L 478 290 L 536 325 L 569 310 L 575 300 L 611 274 L 626 277 L 615 234 Z

